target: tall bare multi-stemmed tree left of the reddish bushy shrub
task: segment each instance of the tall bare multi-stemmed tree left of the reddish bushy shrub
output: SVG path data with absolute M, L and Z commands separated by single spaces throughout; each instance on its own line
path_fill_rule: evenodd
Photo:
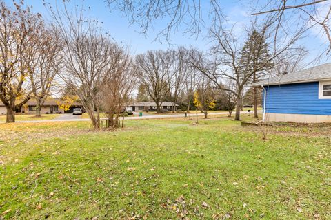
M 90 116 L 94 129 L 99 129 L 101 106 L 100 83 L 103 72 L 108 71 L 112 50 L 110 38 L 97 23 L 85 19 L 83 9 L 70 14 L 63 3 L 63 10 L 50 9 L 54 25 L 63 41 L 65 68 L 59 76 L 79 97 Z M 94 115 L 97 111 L 97 116 Z

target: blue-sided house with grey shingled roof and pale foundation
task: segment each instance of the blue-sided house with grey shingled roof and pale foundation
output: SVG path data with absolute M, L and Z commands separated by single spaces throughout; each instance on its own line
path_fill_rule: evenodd
M 331 63 L 269 78 L 263 88 L 263 120 L 331 122 Z

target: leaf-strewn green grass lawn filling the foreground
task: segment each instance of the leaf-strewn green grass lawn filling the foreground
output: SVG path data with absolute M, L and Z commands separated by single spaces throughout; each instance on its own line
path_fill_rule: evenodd
M 262 140 L 225 115 L 0 124 L 0 219 L 330 219 L 330 130 Z

